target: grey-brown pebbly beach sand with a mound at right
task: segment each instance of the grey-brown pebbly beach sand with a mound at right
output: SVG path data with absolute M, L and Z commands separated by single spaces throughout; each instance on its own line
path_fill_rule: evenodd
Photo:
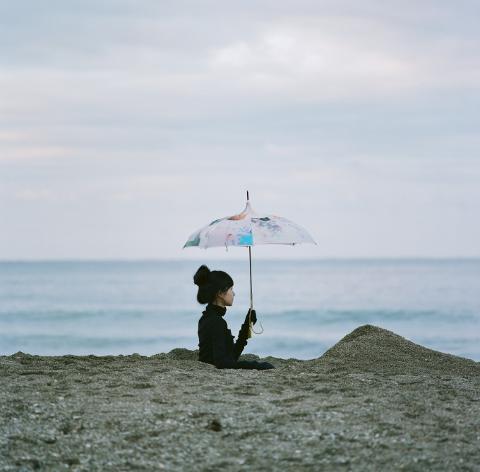
M 0 470 L 480 471 L 480 363 L 370 325 L 275 370 L 196 356 L 1 356 Z

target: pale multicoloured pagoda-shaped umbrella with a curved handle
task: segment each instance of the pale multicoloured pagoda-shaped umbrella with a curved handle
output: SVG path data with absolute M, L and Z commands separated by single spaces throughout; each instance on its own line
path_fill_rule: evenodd
M 264 214 L 253 211 L 248 191 L 246 193 L 245 210 L 232 217 L 215 219 L 215 221 L 203 226 L 195 231 L 186 241 L 184 248 L 213 248 L 225 246 L 248 247 L 248 258 L 250 261 L 250 308 L 253 309 L 253 290 L 252 290 L 252 265 L 251 265 L 251 246 L 259 244 L 289 244 L 294 246 L 301 243 L 313 243 L 313 238 L 308 232 L 298 224 L 289 221 L 286 218 L 276 217 L 272 214 Z M 263 333 L 263 325 L 260 322 Z M 249 334 L 248 337 L 251 337 Z

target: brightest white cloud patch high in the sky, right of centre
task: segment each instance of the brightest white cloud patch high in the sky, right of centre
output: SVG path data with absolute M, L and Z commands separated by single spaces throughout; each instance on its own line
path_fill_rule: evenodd
M 294 92 L 310 99 L 352 97 L 359 92 L 402 87 L 412 73 L 407 61 L 381 51 L 348 44 L 316 31 L 265 32 L 215 53 L 220 73 L 241 75 L 236 82 L 263 92 Z M 389 82 L 389 83 L 388 83 Z

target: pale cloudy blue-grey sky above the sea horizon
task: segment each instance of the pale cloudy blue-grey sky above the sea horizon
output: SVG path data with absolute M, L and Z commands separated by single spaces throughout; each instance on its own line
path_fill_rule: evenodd
M 1 0 L 0 259 L 200 259 L 246 190 L 317 243 L 258 257 L 480 257 L 479 13 Z

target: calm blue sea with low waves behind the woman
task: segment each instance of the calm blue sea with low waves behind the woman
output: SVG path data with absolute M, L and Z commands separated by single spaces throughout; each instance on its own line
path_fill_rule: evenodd
M 198 349 L 198 260 L 0 262 L 0 355 L 152 356 Z M 225 320 L 250 307 L 248 259 L 215 260 L 234 279 Z M 480 259 L 254 260 L 263 334 L 244 353 L 313 359 L 362 325 L 480 361 Z M 256 330 L 259 329 L 258 324 Z

